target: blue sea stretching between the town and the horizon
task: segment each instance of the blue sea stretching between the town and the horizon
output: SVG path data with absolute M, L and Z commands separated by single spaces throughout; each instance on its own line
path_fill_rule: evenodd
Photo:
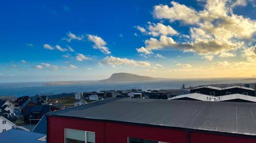
M 102 90 L 161 90 L 180 89 L 208 84 L 230 84 L 230 83 L 251 83 L 255 80 L 244 80 L 243 78 L 201 78 L 201 79 L 173 79 L 164 81 L 139 81 L 139 82 L 98 82 L 84 81 L 82 83 L 66 85 L 44 85 L 47 82 L 8 82 L 0 83 L 0 96 L 34 96 L 52 95 L 74 92 L 91 92 Z

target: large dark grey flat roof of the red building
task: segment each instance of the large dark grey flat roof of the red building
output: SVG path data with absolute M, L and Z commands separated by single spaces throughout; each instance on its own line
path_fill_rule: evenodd
M 48 115 L 256 136 L 255 103 L 111 98 Z

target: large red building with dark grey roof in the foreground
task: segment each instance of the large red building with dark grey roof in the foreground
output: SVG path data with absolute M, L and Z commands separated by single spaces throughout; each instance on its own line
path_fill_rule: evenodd
M 256 142 L 256 104 L 111 98 L 48 113 L 55 142 Z

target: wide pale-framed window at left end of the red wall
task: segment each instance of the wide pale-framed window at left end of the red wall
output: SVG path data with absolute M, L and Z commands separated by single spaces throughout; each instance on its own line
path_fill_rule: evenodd
M 66 128 L 65 143 L 95 143 L 95 133 Z

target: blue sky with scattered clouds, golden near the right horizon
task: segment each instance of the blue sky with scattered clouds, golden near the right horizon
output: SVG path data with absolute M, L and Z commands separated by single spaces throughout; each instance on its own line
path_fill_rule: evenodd
M 256 74 L 256 1 L 3 1 L 0 82 Z

